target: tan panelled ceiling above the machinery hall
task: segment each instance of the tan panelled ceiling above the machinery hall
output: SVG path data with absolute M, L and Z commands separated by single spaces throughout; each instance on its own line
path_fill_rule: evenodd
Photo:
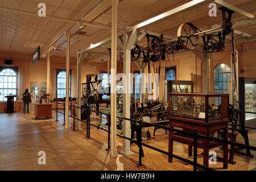
M 254 0 L 225 0 L 226 2 L 256 15 L 256 1 Z M 49 18 L 57 16 L 69 20 L 85 20 L 102 26 L 111 26 L 111 1 L 109 0 L 0 0 L 0 7 L 38 13 L 38 4 L 46 3 L 47 17 L 31 16 L 23 13 L 13 13 L 0 10 L 0 52 L 23 53 L 32 55 L 38 46 L 41 52 L 46 51 L 51 44 L 58 48 L 52 51 L 51 56 L 63 57 L 65 61 L 65 32 L 72 35 L 71 58 L 75 60 L 77 51 L 89 47 L 111 35 L 108 28 L 85 26 L 79 28 L 76 23 L 65 22 Z M 120 0 L 118 3 L 118 30 L 126 26 L 134 26 L 144 20 L 152 18 L 177 6 L 183 5 L 189 0 Z M 191 22 L 196 27 L 209 29 L 213 24 L 221 24 L 220 11 L 217 17 L 209 17 L 209 1 L 180 13 L 168 16 L 156 23 L 152 23 L 143 29 L 160 34 L 176 36 L 177 28 L 181 23 Z M 232 22 L 240 22 L 249 19 L 241 14 L 234 14 Z M 256 36 L 256 20 L 251 19 L 252 24 L 243 25 L 236 30 Z M 240 39 L 244 36 L 240 36 Z M 108 50 L 103 50 L 108 52 Z M 105 56 L 106 57 L 106 56 Z M 1 57 L 0 57 L 1 59 Z M 3 59 L 3 58 L 2 58 Z M 92 59 L 96 59 L 95 56 Z

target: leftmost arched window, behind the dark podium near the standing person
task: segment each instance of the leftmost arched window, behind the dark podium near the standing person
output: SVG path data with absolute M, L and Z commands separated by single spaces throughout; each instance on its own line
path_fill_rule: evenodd
M 5 96 L 17 94 L 17 73 L 12 68 L 0 68 L 0 101 L 7 101 Z M 16 97 L 14 97 L 16 101 Z

